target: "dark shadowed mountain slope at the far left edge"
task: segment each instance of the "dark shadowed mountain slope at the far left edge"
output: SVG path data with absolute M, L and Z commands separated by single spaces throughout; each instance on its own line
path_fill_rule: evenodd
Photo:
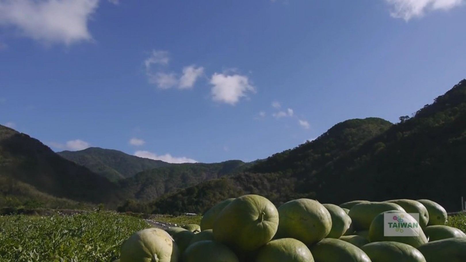
M 59 206 L 125 198 L 108 179 L 63 159 L 39 140 L 0 125 L 0 205 Z M 8 204 L 9 203 L 9 204 Z

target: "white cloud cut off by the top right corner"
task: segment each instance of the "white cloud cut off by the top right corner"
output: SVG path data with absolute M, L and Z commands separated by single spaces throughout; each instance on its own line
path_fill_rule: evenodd
M 391 5 L 392 17 L 409 21 L 413 17 L 422 17 L 426 12 L 450 10 L 464 3 L 464 0 L 385 0 Z

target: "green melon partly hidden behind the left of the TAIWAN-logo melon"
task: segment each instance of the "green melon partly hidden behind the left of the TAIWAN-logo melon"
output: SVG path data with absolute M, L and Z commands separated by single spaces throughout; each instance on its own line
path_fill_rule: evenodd
M 380 213 L 389 210 L 405 212 L 403 207 L 389 202 L 362 202 L 349 209 L 349 217 L 356 231 L 367 230 L 372 220 Z

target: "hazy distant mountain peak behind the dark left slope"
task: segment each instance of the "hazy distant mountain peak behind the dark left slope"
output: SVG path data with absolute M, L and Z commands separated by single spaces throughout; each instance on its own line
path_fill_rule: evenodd
M 121 151 L 99 147 L 89 147 L 81 151 L 62 151 L 58 154 L 110 181 L 129 178 L 144 170 L 170 165 L 164 161 L 139 158 Z

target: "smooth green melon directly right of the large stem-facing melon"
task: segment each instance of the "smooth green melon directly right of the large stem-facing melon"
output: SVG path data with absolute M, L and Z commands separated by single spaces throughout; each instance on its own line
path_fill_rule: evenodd
M 332 229 L 332 217 L 321 203 L 310 199 L 291 200 L 278 207 L 280 220 L 276 239 L 294 238 L 307 246 L 325 238 Z

